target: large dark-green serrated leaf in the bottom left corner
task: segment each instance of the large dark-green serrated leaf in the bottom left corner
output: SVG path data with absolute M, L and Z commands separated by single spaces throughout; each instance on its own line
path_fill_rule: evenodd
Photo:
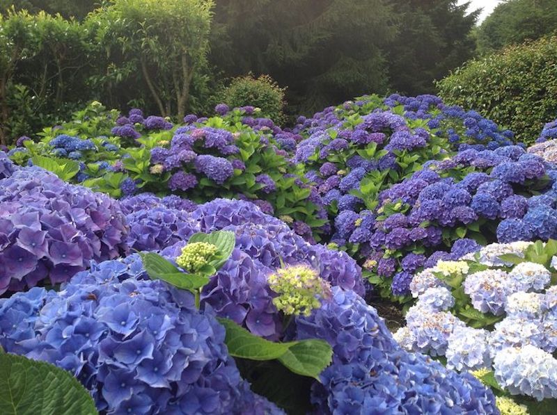
M 0 414 L 93 415 L 95 402 L 70 373 L 0 352 Z

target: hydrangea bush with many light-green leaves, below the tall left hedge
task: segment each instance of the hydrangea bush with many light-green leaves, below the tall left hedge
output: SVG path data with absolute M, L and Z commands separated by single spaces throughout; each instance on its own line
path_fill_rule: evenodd
M 256 117 L 260 112 L 251 106 L 221 112 L 208 119 L 187 115 L 174 125 L 136 108 L 116 117 L 93 103 L 72 122 L 44 129 L 39 143 L 22 138 L 9 155 L 20 165 L 29 158 L 40 163 L 37 156 L 70 158 L 73 174 L 67 170 L 72 161 L 38 165 L 112 197 L 139 189 L 196 203 L 235 197 L 287 220 L 308 241 L 327 234 L 319 195 L 281 149 L 294 149 L 300 137 Z

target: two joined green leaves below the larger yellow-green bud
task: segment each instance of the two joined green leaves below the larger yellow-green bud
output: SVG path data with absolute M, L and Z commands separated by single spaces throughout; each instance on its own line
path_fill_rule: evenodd
M 233 320 L 218 320 L 226 328 L 225 343 L 233 357 L 259 361 L 278 359 L 293 373 L 315 379 L 331 364 L 333 350 L 326 341 L 308 339 L 274 343 L 251 334 Z

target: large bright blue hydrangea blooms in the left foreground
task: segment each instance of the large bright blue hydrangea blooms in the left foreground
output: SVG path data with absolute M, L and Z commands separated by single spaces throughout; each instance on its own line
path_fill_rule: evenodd
M 240 377 L 213 314 L 143 277 L 136 255 L 93 263 L 62 291 L 0 300 L 0 345 L 56 364 L 114 414 L 279 414 Z

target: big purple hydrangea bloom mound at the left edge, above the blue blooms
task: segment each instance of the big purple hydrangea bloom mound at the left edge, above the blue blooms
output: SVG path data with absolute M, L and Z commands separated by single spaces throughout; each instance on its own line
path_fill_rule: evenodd
M 20 168 L 0 180 L 0 216 L 0 293 L 46 278 L 65 282 L 93 259 L 127 252 L 118 202 L 40 168 Z

